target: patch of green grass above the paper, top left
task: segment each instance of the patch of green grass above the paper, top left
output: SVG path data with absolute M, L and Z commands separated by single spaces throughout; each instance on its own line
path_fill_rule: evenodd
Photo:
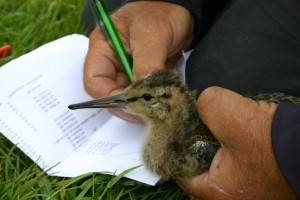
M 0 45 L 13 47 L 0 66 L 62 36 L 85 33 L 82 5 L 83 0 L 0 0 Z

